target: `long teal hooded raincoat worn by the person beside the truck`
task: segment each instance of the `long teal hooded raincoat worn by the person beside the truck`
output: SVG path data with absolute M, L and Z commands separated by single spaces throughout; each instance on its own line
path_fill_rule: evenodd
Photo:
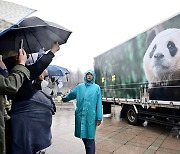
M 86 74 L 93 74 L 93 80 L 88 82 Z M 89 70 L 84 75 L 84 83 L 77 85 L 63 101 L 76 99 L 75 136 L 78 138 L 94 139 L 96 121 L 102 120 L 102 97 L 99 85 L 95 84 L 95 73 Z

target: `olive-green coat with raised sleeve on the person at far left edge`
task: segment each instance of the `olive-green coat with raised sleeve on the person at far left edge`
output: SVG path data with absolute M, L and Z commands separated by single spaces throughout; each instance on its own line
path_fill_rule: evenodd
M 14 94 L 22 86 L 25 79 L 29 79 L 30 73 L 23 65 L 16 65 L 10 75 L 5 78 L 0 75 L 0 154 L 5 154 L 5 125 L 4 125 L 4 97 Z

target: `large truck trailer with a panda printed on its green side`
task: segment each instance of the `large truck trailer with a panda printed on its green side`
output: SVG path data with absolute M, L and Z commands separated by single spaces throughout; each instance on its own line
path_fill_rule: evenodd
M 103 114 L 180 128 L 180 14 L 94 58 Z

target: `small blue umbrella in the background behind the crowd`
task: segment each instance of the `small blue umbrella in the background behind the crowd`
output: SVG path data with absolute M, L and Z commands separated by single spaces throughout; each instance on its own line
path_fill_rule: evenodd
M 47 67 L 48 76 L 64 76 L 70 74 L 70 72 L 61 66 L 49 65 Z

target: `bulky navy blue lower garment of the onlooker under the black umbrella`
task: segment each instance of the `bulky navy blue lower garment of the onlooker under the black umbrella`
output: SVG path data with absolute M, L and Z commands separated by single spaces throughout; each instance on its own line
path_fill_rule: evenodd
M 12 154 L 32 154 L 51 145 L 52 103 L 40 90 L 29 100 L 12 103 Z

